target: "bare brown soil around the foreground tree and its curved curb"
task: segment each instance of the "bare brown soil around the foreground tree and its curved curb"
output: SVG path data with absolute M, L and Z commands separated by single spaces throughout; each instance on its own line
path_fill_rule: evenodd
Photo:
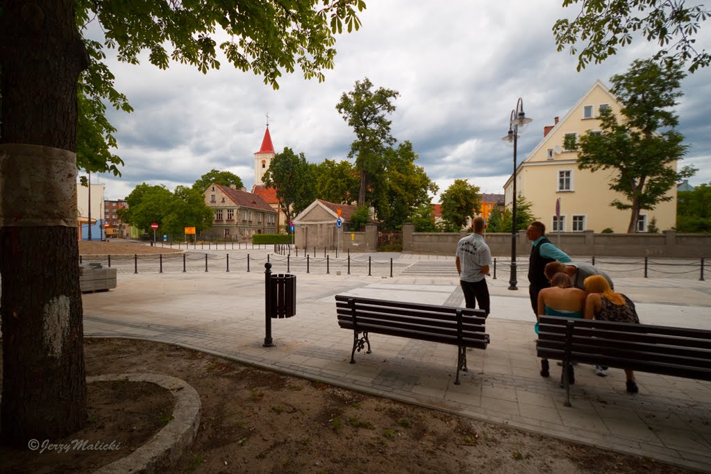
M 282 375 L 173 345 L 85 340 L 87 375 L 151 372 L 185 380 L 200 394 L 198 436 L 170 472 L 196 473 L 683 473 L 506 426 L 454 416 L 321 382 Z M 135 382 L 107 384 L 90 397 L 86 435 L 123 436 L 125 455 L 154 433 L 139 416 L 165 421 L 166 405 Z M 92 384 L 93 385 L 93 384 Z M 95 388 L 90 387 L 91 391 Z M 162 390 L 162 389 L 159 389 Z M 166 399 L 171 399 L 169 392 Z M 132 408 L 122 408 L 131 403 Z M 128 424 L 103 421 L 121 414 Z M 80 456 L 79 456 L 80 455 Z M 85 472 L 109 462 L 99 451 L 53 454 L 0 451 L 0 472 Z M 25 456 L 16 461 L 16 456 Z M 96 456 L 96 457 L 95 457 Z

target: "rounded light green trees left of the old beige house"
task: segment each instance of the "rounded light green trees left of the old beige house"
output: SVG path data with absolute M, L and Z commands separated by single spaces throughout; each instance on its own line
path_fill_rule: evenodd
M 203 193 L 178 186 L 171 193 L 162 185 L 142 183 L 126 198 L 127 207 L 119 210 L 121 219 L 149 232 L 152 223 L 164 234 L 182 235 L 185 227 L 201 232 L 212 225 L 213 210 L 205 204 Z

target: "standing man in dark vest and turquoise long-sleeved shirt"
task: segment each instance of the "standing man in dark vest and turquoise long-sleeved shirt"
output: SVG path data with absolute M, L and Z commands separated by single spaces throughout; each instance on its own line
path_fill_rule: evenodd
M 533 249 L 531 249 L 531 256 L 528 260 L 528 295 L 531 298 L 531 308 L 533 308 L 533 314 L 538 318 L 538 292 L 544 288 L 550 286 L 550 281 L 548 281 L 545 276 L 545 266 L 550 262 L 568 263 L 571 262 L 568 254 L 563 252 L 558 247 L 550 243 L 547 237 L 545 237 L 545 224 L 534 220 L 526 229 L 526 237 L 533 244 Z

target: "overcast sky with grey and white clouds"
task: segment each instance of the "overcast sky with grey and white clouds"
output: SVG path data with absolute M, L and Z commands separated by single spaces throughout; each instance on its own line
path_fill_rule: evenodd
M 553 24 L 575 13 L 560 0 L 367 3 L 360 31 L 338 36 L 336 66 L 320 84 L 296 73 L 284 75 L 274 91 L 226 60 L 203 75 L 178 64 L 159 70 L 147 60 L 125 65 L 109 50 L 117 90 L 134 112 L 109 112 L 118 129 L 116 153 L 126 164 L 121 178 L 100 175 L 106 198 L 122 199 L 144 182 L 171 190 L 191 185 L 212 168 L 236 173 L 250 189 L 267 113 L 277 151 L 289 146 L 313 163 L 345 159 L 355 136 L 336 103 L 364 77 L 400 92 L 392 134 L 412 141 L 417 163 L 441 191 L 466 178 L 483 192 L 503 193 L 513 149 L 501 137 L 519 97 L 533 119 L 521 133 L 520 159 L 542 139 L 543 127 L 564 117 L 596 79 L 609 86 L 611 75 L 654 52 L 654 45 L 637 40 L 602 65 L 577 72 L 575 58 L 555 48 Z M 709 22 L 697 48 L 711 49 Z M 677 113 L 689 149 L 681 164 L 700 168 L 691 184 L 708 183 L 711 121 L 704 117 L 711 68 L 687 77 L 683 91 Z

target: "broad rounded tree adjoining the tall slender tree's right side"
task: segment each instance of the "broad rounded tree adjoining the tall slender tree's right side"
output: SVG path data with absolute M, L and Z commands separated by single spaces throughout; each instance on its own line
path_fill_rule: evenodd
M 410 141 L 383 151 L 383 173 L 373 176 L 371 202 L 384 229 L 401 229 L 412 212 L 429 204 L 429 193 L 439 189 L 422 166 L 417 166 L 417 153 Z

